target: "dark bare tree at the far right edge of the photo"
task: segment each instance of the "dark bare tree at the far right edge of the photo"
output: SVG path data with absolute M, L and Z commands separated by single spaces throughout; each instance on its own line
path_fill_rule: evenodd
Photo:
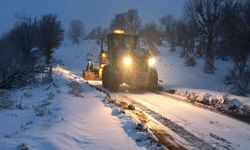
M 223 11 L 220 45 L 233 59 L 234 68 L 228 76 L 234 94 L 245 95 L 250 90 L 250 1 L 228 0 Z

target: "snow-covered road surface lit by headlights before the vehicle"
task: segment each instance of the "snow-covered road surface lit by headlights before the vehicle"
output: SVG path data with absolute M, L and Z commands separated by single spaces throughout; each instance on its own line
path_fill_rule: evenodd
M 136 102 L 134 105 L 139 103 L 159 113 L 215 148 L 245 150 L 250 146 L 249 124 L 219 113 L 155 93 L 113 93 L 111 96 L 123 100 L 125 96 L 133 100 Z

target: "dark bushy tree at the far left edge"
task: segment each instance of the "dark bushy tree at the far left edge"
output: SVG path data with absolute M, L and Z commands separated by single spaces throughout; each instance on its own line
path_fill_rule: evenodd
M 35 64 L 32 48 L 37 33 L 36 19 L 26 14 L 17 14 L 16 18 L 14 27 L 0 40 L 0 70 L 4 79 L 30 70 Z

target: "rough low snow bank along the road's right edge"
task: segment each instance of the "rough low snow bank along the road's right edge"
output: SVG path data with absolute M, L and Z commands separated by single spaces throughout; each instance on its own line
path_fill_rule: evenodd
M 223 92 L 197 89 L 166 90 L 173 95 L 191 103 L 200 103 L 211 106 L 220 112 L 225 112 L 238 119 L 250 122 L 250 98 L 230 95 Z M 235 116 L 236 115 L 236 116 Z

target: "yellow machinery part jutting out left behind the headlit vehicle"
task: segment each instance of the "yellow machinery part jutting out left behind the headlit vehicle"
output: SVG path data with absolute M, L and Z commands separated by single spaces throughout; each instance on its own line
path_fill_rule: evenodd
M 107 52 L 103 49 L 104 37 L 101 37 L 101 50 L 99 54 L 99 66 L 95 67 L 94 62 L 88 59 L 86 69 L 82 73 L 82 77 L 85 80 L 102 80 L 102 70 L 107 64 Z

